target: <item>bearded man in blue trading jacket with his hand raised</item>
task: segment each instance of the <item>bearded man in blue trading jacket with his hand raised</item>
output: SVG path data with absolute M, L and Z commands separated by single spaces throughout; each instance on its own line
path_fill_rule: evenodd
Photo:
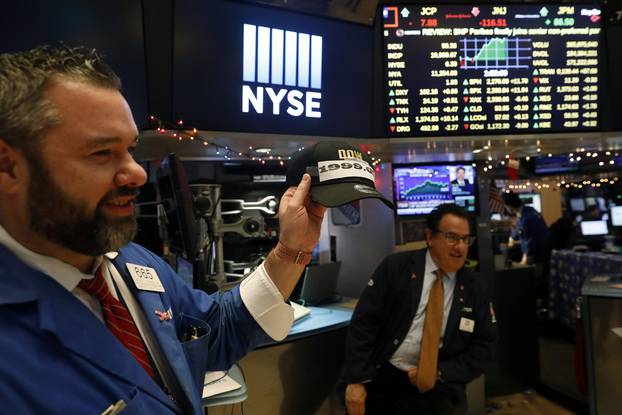
M 193 290 L 132 243 L 146 173 L 120 80 L 95 51 L 0 55 L 0 396 L 10 414 L 200 414 L 206 370 L 266 336 L 316 245 L 310 177 L 240 287 Z M 304 258 L 305 260 L 300 260 Z

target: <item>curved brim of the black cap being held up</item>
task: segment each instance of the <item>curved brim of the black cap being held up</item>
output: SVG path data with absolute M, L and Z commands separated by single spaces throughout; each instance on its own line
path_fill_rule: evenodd
M 380 199 L 395 210 L 391 201 L 372 186 L 360 183 L 334 183 L 324 186 L 311 186 L 311 200 L 326 207 L 337 207 L 360 199 Z

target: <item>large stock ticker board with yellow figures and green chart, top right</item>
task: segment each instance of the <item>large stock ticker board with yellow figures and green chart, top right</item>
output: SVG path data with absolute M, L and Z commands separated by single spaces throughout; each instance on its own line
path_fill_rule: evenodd
M 594 5 L 385 6 L 387 134 L 599 128 Z

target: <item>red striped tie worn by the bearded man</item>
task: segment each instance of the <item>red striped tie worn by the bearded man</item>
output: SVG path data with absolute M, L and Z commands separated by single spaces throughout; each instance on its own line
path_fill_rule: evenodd
M 83 279 L 78 284 L 78 287 L 99 300 L 108 329 L 132 353 L 149 376 L 153 378 L 153 367 L 149 361 L 149 355 L 140 337 L 138 328 L 134 324 L 134 319 L 132 319 L 127 308 L 110 293 L 102 273 L 102 267 L 100 266 L 95 271 L 95 278 L 90 280 Z

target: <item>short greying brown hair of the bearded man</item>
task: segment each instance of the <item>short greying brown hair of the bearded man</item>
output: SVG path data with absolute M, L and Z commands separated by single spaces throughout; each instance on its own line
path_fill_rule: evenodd
M 44 94 L 60 79 L 121 89 L 121 80 L 95 49 L 39 46 L 0 54 L 0 139 L 35 155 L 41 132 L 60 122 Z

